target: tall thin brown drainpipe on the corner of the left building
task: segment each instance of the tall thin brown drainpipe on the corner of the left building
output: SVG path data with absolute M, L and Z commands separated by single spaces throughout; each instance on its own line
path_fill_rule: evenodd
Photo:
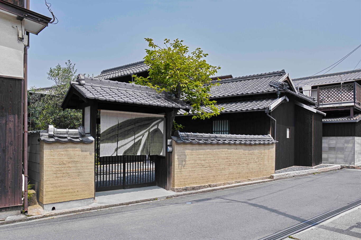
M 30 9 L 30 0 L 26 0 L 26 9 Z M 24 164 L 24 213 L 27 214 L 27 49 L 29 48 L 29 32 L 27 35 L 27 46 L 24 47 L 24 135 L 23 135 L 23 164 Z

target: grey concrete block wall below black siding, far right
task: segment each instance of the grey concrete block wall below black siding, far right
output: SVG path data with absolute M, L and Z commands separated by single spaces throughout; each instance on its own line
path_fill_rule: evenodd
M 322 137 L 323 164 L 361 164 L 361 137 Z

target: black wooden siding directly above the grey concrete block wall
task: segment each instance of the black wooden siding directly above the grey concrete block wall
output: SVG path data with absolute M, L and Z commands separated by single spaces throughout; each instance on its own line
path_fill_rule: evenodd
M 361 121 L 358 123 L 323 123 L 324 137 L 361 137 Z

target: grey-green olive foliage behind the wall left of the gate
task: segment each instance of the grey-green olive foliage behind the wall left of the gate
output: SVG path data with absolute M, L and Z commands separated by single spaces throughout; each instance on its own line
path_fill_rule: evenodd
M 49 124 L 56 128 L 77 128 L 82 124 L 82 111 L 60 107 L 70 81 L 77 79 L 75 64 L 68 60 L 65 66 L 50 68 L 47 74 L 54 81 L 50 90 L 32 87 L 28 91 L 29 130 L 45 130 Z

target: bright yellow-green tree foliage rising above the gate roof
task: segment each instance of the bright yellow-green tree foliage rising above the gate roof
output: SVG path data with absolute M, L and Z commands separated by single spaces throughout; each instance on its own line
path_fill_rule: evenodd
M 192 119 L 207 119 L 216 116 L 222 110 L 216 101 L 211 101 L 210 88 L 217 83 L 211 83 L 210 76 L 217 73 L 220 67 L 209 65 L 205 57 L 208 55 L 200 48 L 190 52 L 183 40 L 164 40 L 164 46 L 154 43 L 153 39 L 145 38 L 150 49 L 145 49 L 147 55 L 144 62 L 150 67 L 148 77 L 133 75 L 136 84 L 146 85 L 157 92 L 168 92 L 192 106 L 189 113 Z M 182 128 L 174 118 L 177 110 L 171 114 L 173 129 Z

